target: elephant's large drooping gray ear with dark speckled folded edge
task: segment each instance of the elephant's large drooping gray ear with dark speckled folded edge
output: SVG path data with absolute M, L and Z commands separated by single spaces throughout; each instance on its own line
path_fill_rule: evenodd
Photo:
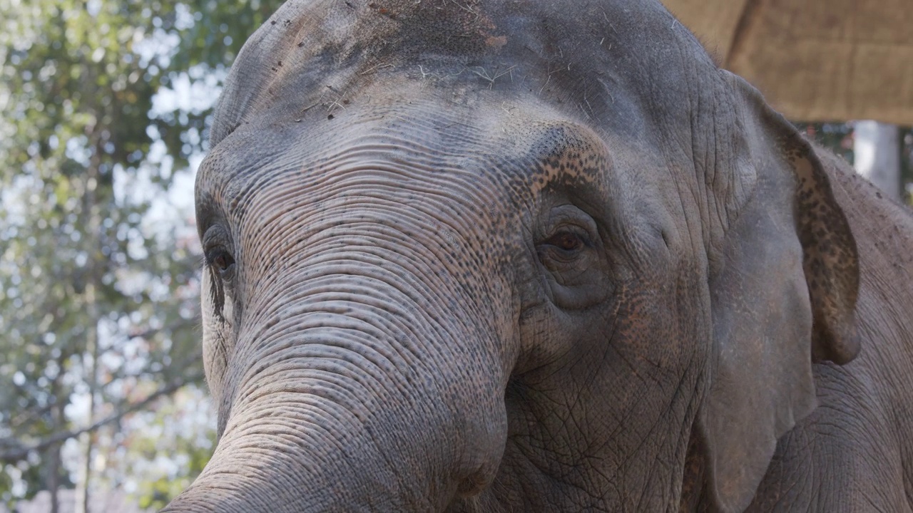
M 721 73 L 739 120 L 729 162 L 741 199 L 711 254 L 713 361 L 695 446 L 705 492 L 741 511 L 777 439 L 815 407 L 813 361 L 843 364 L 859 351 L 859 267 L 811 145 L 757 90 Z

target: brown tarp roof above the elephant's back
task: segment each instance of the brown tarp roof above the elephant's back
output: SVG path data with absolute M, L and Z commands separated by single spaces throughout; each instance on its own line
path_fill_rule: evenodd
M 913 125 L 913 0 L 663 0 L 792 120 Z

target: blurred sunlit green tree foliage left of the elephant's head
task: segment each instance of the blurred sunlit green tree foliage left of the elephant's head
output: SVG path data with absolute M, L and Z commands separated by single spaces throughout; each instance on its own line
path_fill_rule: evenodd
M 85 491 L 100 436 L 202 382 L 195 235 L 165 192 L 279 3 L 0 0 L 0 500 Z

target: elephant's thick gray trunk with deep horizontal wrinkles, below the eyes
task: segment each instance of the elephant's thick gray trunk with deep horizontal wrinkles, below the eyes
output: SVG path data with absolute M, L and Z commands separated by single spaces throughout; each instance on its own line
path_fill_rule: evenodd
M 336 247 L 247 291 L 223 434 L 164 511 L 432 511 L 495 475 L 507 380 L 486 301 L 417 257 Z

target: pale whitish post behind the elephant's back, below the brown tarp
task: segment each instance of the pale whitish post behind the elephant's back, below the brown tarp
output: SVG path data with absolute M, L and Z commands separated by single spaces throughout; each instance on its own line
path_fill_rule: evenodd
M 900 199 L 900 138 L 897 125 L 856 121 L 855 170 L 895 200 Z

